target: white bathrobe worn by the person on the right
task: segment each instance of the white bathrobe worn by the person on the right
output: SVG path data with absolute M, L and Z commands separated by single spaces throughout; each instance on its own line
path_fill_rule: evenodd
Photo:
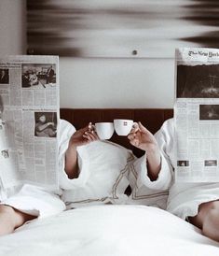
M 157 190 L 169 187 L 167 210 L 184 220 L 196 216 L 201 203 L 219 199 L 219 183 L 174 183 L 173 119 L 165 121 L 155 136 L 162 154 L 162 166 L 156 181 L 144 179 L 145 186 Z

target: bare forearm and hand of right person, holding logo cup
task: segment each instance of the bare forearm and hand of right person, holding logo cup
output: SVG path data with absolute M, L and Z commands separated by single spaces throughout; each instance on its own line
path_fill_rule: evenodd
M 156 180 L 161 168 L 161 157 L 154 135 L 138 122 L 138 127 L 132 129 L 128 138 L 131 145 L 146 152 L 147 175 L 151 180 Z

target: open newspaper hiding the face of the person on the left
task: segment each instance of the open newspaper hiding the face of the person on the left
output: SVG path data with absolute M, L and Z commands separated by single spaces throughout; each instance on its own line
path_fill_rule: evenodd
M 0 177 L 9 188 L 58 187 L 59 59 L 0 59 Z

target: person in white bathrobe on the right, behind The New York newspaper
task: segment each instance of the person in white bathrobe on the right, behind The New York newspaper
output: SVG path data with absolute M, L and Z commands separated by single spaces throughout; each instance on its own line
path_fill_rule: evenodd
M 155 136 L 140 124 L 140 129 L 132 131 L 129 138 L 132 145 L 144 149 L 147 155 L 144 185 L 169 189 L 167 210 L 198 226 L 203 235 L 219 241 L 219 183 L 174 183 L 173 119 L 165 121 Z

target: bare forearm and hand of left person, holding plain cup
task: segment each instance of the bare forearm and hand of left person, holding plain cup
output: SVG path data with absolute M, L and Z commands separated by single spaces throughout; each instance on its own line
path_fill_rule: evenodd
M 77 152 L 76 148 L 88 144 L 89 142 L 95 141 L 98 139 L 98 136 L 92 129 L 92 124 L 89 123 L 88 126 L 82 128 L 75 132 L 71 136 L 68 149 L 65 152 L 65 172 L 68 178 L 77 178 L 78 177 L 78 163 L 77 163 Z

